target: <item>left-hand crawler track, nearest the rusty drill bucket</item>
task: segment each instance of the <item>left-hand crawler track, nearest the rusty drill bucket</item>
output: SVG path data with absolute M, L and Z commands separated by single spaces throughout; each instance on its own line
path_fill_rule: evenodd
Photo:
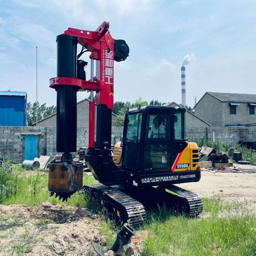
M 121 220 L 122 222 L 128 222 L 131 226 L 145 223 L 146 212 L 144 206 L 119 189 L 103 184 L 92 184 L 85 185 L 83 190 L 89 191 L 94 200 L 112 212 L 116 222 Z

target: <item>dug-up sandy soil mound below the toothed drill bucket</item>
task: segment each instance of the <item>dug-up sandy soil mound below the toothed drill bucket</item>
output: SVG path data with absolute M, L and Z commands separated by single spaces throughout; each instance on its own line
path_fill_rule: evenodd
M 24 249 L 29 256 L 87 255 L 99 236 L 97 215 L 84 208 L 0 205 L 0 216 L 1 256 L 13 251 L 18 255 Z

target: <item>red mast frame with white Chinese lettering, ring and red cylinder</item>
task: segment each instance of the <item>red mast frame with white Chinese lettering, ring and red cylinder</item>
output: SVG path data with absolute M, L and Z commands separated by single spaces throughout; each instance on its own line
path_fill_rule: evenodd
M 72 77 L 53 77 L 50 79 L 50 87 L 68 85 L 79 87 L 79 91 L 96 91 L 96 105 L 105 104 L 108 108 L 114 108 L 114 43 L 115 40 L 108 32 L 109 22 L 104 21 L 95 31 L 68 28 L 64 34 L 75 36 L 78 43 L 89 52 L 90 59 L 96 61 L 96 77 L 85 81 Z M 95 103 L 90 102 L 89 110 L 89 148 L 95 143 Z

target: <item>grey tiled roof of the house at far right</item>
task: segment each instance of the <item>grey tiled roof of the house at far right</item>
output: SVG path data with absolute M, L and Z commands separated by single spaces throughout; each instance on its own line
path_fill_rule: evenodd
M 256 102 L 256 94 L 229 93 L 229 92 L 208 92 L 221 101 L 228 102 Z

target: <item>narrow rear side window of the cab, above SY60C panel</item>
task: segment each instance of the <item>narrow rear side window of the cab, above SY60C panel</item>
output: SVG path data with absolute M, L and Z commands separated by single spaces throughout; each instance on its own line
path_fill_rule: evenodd
M 186 111 L 175 110 L 173 115 L 174 140 L 186 139 Z

